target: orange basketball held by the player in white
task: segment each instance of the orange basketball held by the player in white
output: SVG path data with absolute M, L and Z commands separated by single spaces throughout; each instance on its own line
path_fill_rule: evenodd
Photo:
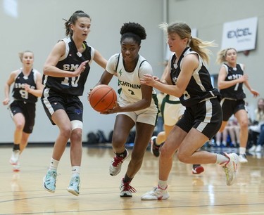
M 115 107 L 117 96 L 115 90 L 106 84 L 101 84 L 89 93 L 89 103 L 98 112 Z

